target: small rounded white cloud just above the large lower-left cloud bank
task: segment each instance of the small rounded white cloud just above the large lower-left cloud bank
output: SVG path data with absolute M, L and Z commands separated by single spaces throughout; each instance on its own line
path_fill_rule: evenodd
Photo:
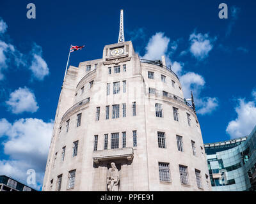
M 39 108 L 36 103 L 35 94 L 27 87 L 19 87 L 19 89 L 13 91 L 8 101 L 6 101 L 6 105 L 8 105 L 12 113 L 15 114 L 22 112 L 34 113 Z

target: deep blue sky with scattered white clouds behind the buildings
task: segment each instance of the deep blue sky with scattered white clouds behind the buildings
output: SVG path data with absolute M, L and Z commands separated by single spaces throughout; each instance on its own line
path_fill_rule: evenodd
M 36 18 L 26 18 L 35 3 Z M 220 19 L 220 3 L 228 18 Z M 0 3 L 0 174 L 40 189 L 67 63 L 102 57 L 125 40 L 145 59 L 166 61 L 185 96 L 192 89 L 204 142 L 248 135 L 256 124 L 255 1 L 5 1 Z M 161 45 L 161 46 L 160 46 Z M 35 136 L 36 135 L 36 136 Z M 25 148 L 24 148 L 25 147 Z

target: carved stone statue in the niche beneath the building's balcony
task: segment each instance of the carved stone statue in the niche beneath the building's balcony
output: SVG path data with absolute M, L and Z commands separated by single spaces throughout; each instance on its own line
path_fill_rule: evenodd
M 111 168 L 108 169 L 107 175 L 108 191 L 119 191 L 119 171 L 115 163 L 111 163 Z

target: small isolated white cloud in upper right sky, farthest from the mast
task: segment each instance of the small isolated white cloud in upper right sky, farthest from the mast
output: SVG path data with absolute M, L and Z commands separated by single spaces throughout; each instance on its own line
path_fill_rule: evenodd
M 212 43 L 215 39 L 211 39 L 209 34 L 192 33 L 189 36 L 189 41 L 191 41 L 189 51 L 194 57 L 196 57 L 196 59 L 205 59 L 205 57 L 207 57 L 209 52 L 212 50 Z

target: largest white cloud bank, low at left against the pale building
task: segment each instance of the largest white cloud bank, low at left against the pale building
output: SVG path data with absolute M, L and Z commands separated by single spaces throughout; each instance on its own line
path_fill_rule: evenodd
M 6 128 L 3 127 L 4 123 L 8 124 Z M 11 175 L 26 183 L 26 172 L 33 169 L 36 171 L 37 185 L 42 184 L 53 121 L 29 118 L 10 124 L 6 119 L 1 119 L 0 127 L 4 130 L 0 136 L 8 136 L 8 140 L 3 143 L 4 154 L 10 156 L 9 160 L 0 161 L 0 175 Z

